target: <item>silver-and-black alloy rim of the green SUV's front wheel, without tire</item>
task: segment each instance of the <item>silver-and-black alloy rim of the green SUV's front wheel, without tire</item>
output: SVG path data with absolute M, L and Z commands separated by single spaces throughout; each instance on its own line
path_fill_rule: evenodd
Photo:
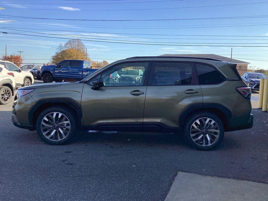
M 71 130 L 70 120 L 60 112 L 51 112 L 41 121 L 43 135 L 52 141 L 60 141 L 68 136 Z

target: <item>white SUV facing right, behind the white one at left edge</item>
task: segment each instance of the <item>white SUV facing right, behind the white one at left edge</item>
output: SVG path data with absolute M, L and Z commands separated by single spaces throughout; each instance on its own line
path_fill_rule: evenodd
M 0 64 L 14 74 L 14 79 L 17 83 L 17 86 L 30 86 L 34 83 L 34 76 L 30 72 L 22 71 L 14 63 L 10 61 L 0 60 Z

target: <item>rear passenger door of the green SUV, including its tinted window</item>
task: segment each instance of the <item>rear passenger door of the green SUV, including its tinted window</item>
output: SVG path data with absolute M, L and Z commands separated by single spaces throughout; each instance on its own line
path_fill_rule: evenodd
M 179 127 L 180 114 L 192 104 L 203 103 L 194 63 L 152 63 L 145 98 L 143 131 Z

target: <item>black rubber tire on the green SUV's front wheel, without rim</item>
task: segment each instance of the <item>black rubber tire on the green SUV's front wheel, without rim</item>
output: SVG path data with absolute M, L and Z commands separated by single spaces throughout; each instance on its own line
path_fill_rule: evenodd
M 41 129 L 41 123 L 42 123 L 43 118 L 46 115 L 48 115 L 50 113 L 53 113 L 53 112 L 60 112 L 60 113 L 62 113 L 70 121 L 70 132 L 69 132 L 69 134 L 65 138 L 63 138 L 62 140 L 59 140 L 59 141 L 53 141 L 53 140 L 48 139 L 47 137 L 44 136 L 44 134 L 42 133 L 42 129 Z M 39 135 L 39 137 L 41 138 L 41 140 L 43 140 L 47 144 L 50 144 L 50 145 L 63 145 L 63 144 L 67 144 L 75 136 L 76 130 L 77 130 L 77 121 L 76 121 L 76 118 L 75 118 L 75 114 L 70 109 L 68 109 L 67 107 L 63 107 L 63 106 L 49 107 L 49 108 L 45 109 L 43 112 L 41 112 L 39 114 L 39 116 L 37 117 L 37 121 L 36 121 L 36 131 L 37 131 L 37 134 Z

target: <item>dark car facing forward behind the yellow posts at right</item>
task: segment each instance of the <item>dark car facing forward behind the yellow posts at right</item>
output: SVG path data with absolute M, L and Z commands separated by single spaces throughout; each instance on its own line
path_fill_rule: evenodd
M 267 79 L 267 77 L 261 73 L 261 72 L 246 72 L 242 76 L 245 83 L 254 91 L 260 90 L 260 79 L 264 78 Z

